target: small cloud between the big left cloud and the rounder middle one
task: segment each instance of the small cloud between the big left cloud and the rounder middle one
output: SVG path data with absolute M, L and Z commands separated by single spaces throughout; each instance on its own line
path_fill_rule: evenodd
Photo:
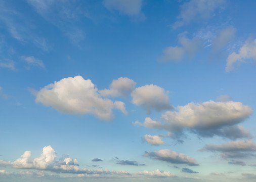
M 99 93 L 104 96 L 111 97 L 125 97 L 128 98 L 135 88 L 136 82 L 129 78 L 120 77 L 117 80 L 113 80 L 109 85 L 109 89 L 99 90 Z

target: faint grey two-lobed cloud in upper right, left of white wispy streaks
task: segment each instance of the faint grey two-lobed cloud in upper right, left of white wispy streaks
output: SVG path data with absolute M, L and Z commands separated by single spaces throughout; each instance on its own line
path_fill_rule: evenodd
M 201 40 L 197 37 L 189 39 L 186 34 L 187 32 L 184 32 L 178 36 L 178 43 L 181 44 L 181 47 L 176 46 L 165 48 L 159 61 L 179 62 L 185 57 L 194 57 L 196 52 L 201 48 Z

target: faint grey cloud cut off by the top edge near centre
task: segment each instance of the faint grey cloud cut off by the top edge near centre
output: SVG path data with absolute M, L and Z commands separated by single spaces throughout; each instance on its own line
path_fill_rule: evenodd
M 104 6 L 111 10 L 117 10 L 120 14 L 128 16 L 142 15 L 143 0 L 104 0 Z

